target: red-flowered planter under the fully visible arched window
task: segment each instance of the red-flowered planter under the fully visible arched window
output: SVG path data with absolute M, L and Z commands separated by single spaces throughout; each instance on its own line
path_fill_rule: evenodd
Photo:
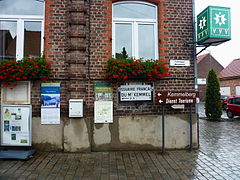
M 131 79 L 155 81 L 169 76 L 167 64 L 160 60 L 111 59 L 107 62 L 108 81 L 123 82 Z

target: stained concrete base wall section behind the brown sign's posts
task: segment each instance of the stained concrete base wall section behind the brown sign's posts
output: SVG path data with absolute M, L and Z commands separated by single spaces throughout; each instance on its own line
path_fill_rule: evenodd
M 197 115 L 193 115 L 193 146 L 198 147 Z M 165 148 L 186 149 L 190 141 L 189 115 L 165 116 Z M 157 150 L 162 147 L 162 116 L 116 117 L 113 124 L 95 124 L 95 151 Z

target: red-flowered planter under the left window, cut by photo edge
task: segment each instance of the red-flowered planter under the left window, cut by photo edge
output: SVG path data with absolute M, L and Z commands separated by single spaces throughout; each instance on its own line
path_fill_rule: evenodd
M 15 86 L 20 80 L 48 79 L 50 64 L 44 58 L 0 61 L 0 80 L 4 87 Z

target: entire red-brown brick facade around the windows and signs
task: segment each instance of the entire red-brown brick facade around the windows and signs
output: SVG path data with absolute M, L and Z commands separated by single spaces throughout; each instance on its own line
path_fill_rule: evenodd
M 191 60 L 190 67 L 170 67 L 171 76 L 155 82 L 154 90 L 194 90 L 193 48 L 184 46 L 193 37 L 192 1 L 147 2 L 158 7 L 159 59 Z M 112 57 L 112 3 L 109 0 L 46 1 L 44 54 L 52 62 L 51 80 L 61 82 L 62 115 L 68 112 L 70 98 L 84 99 L 85 113 L 93 112 L 93 83 L 104 80 L 104 66 Z M 36 115 L 40 105 L 39 88 L 40 83 L 34 83 L 32 102 Z M 154 102 L 120 104 L 117 99 L 115 87 L 115 115 L 159 114 L 159 105 Z

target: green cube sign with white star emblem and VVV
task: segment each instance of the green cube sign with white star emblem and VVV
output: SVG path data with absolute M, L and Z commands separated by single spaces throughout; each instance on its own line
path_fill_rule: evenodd
M 230 8 L 208 6 L 197 16 L 198 44 L 218 45 L 230 39 Z

